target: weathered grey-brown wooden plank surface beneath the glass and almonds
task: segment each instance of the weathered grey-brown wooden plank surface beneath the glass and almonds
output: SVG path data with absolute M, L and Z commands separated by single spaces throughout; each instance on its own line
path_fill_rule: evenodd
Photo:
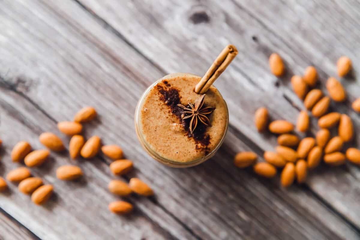
M 103 156 L 74 162 L 67 153 L 51 153 L 48 163 L 31 170 L 53 184 L 55 194 L 38 207 L 9 184 L 0 194 L 0 239 L 359 239 L 359 167 L 321 166 L 305 185 L 284 190 L 278 177 L 264 180 L 232 163 L 237 151 L 261 156 L 276 146 L 276 136 L 257 133 L 256 108 L 294 123 L 303 105 L 289 78 L 314 64 L 325 90 L 341 55 L 352 59 L 354 73 L 342 79 L 348 101 L 332 107 L 360 128 L 350 108 L 360 92 L 359 21 L 357 1 L 1 0 L 0 176 L 17 167 L 9 153 L 19 140 L 39 149 L 38 136 L 51 131 L 68 143 L 56 123 L 85 105 L 99 112 L 85 124 L 85 136 L 119 144 L 136 169 L 114 177 Z M 202 75 L 229 43 L 239 54 L 215 83 L 230 111 L 223 146 L 197 167 L 158 164 L 136 139 L 139 96 L 167 73 Z M 272 52 L 287 64 L 281 79 L 270 74 Z M 313 119 L 311 133 L 316 130 Z M 356 135 L 357 147 L 359 140 Z M 85 177 L 57 180 L 56 168 L 68 163 Z M 108 182 L 135 176 L 155 196 L 131 196 L 133 214 L 111 214 L 107 205 L 119 198 Z

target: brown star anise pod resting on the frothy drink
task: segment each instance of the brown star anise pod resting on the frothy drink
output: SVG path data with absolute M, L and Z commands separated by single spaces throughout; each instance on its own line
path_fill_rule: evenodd
M 188 107 L 177 104 L 178 107 L 184 109 L 184 114 L 181 116 L 182 119 L 191 118 L 190 120 L 190 133 L 193 134 L 195 128 L 198 126 L 198 122 L 202 122 L 205 126 L 210 125 L 210 120 L 206 116 L 215 109 L 213 107 L 203 107 L 205 100 L 205 94 L 195 100 L 195 104 L 188 103 Z

